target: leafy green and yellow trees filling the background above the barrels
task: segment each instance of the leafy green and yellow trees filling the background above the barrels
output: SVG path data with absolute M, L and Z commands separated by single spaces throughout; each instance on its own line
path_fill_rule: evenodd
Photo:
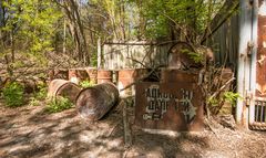
M 10 74 L 31 62 L 48 66 L 48 54 L 65 54 L 75 64 L 95 65 L 99 39 L 101 43 L 175 40 L 198 44 L 224 3 L 225 0 L 1 1 L 1 63 Z

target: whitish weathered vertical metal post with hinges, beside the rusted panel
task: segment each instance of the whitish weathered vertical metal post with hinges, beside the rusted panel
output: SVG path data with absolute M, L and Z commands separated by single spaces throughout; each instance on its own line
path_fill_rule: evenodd
M 238 49 L 238 67 L 237 67 L 237 93 L 244 98 L 249 89 L 249 66 L 248 60 L 248 42 L 252 40 L 252 6 L 249 0 L 239 0 L 241 18 L 239 18 L 239 49 Z M 237 99 L 236 122 L 246 125 L 246 103 Z

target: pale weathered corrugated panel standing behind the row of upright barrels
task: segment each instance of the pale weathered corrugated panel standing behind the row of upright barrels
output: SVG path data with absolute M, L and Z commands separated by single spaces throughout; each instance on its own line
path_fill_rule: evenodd
M 168 44 L 152 43 L 105 43 L 103 45 L 102 69 L 140 69 L 167 65 Z

